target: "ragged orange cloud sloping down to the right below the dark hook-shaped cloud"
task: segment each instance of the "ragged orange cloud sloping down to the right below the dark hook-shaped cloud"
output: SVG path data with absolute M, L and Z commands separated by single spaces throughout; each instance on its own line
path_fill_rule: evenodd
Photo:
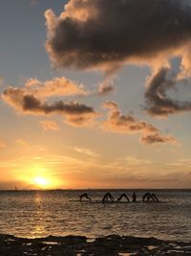
M 102 123 L 102 128 L 117 133 L 139 133 L 140 141 L 144 145 L 154 143 L 175 144 L 176 140 L 170 136 L 159 134 L 159 129 L 144 121 L 139 121 L 133 115 L 123 115 L 114 102 L 105 103 L 104 107 L 109 107 L 110 111 L 106 121 Z

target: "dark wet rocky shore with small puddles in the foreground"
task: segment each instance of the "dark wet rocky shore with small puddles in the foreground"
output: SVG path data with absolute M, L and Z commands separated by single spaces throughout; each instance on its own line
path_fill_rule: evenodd
M 161 241 L 155 238 L 107 237 L 87 239 L 82 236 L 66 236 L 40 239 L 23 239 L 0 235 L 1 256 L 191 256 L 191 243 Z

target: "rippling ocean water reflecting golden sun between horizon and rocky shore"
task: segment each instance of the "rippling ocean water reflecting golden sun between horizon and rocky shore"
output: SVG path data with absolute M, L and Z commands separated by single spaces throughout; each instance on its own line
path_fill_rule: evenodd
M 113 190 L 117 198 L 132 190 Z M 160 203 L 72 202 L 83 191 L 0 191 L 0 233 L 18 237 L 109 234 L 191 242 L 191 190 L 153 190 Z M 104 190 L 88 191 L 100 199 Z

